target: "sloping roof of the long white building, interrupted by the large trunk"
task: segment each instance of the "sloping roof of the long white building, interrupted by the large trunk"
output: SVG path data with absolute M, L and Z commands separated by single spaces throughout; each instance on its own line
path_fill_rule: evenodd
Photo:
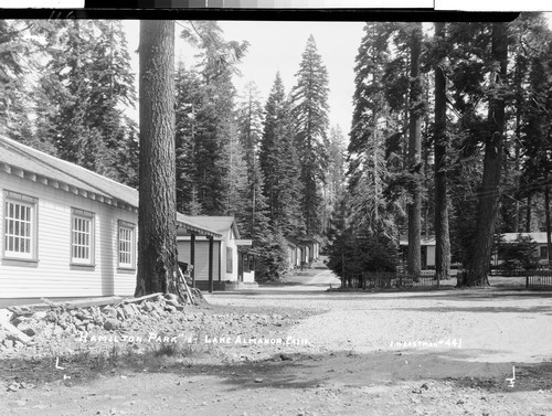
M 123 210 L 138 212 L 137 190 L 1 135 L 0 171 Z M 177 222 L 190 231 L 220 236 L 180 213 L 177 213 Z

